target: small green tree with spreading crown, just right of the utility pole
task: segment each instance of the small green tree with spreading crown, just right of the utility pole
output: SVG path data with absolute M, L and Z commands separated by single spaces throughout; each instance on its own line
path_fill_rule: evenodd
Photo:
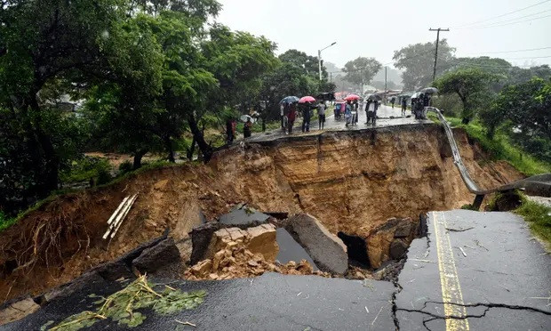
M 463 104 L 462 122 L 467 124 L 474 116 L 475 109 L 488 97 L 488 86 L 496 77 L 481 69 L 458 69 L 445 73 L 436 79 L 435 87 L 440 93 L 456 93 Z

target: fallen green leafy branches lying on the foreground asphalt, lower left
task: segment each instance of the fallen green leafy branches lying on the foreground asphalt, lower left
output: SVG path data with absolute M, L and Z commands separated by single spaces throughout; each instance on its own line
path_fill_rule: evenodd
M 151 308 L 158 314 L 170 315 L 182 310 L 195 309 L 204 302 L 206 295 L 205 291 L 188 293 L 172 287 L 165 287 L 164 292 L 158 293 L 153 287 L 148 283 L 146 276 L 140 276 L 122 290 L 96 301 L 95 304 L 99 306 L 96 311 L 83 311 L 69 316 L 49 330 L 76 331 L 92 327 L 100 319 L 112 319 L 118 322 L 119 326 L 138 327 L 147 316 L 137 310 Z M 45 324 L 44 329 L 51 324 Z

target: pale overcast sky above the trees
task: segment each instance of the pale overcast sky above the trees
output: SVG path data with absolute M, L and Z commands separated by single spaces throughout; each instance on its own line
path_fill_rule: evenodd
M 339 67 L 358 56 L 387 64 L 394 51 L 407 44 L 435 42 L 436 32 L 428 28 L 450 28 L 440 36 L 457 48 L 457 56 L 489 55 L 520 66 L 551 64 L 551 1 L 219 1 L 220 23 L 268 37 L 278 44 L 278 53 L 295 48 L 317 55 L 318 49 L 336 41 L 322 58 Z M 547 49 L 504 52 L 543 47 Z

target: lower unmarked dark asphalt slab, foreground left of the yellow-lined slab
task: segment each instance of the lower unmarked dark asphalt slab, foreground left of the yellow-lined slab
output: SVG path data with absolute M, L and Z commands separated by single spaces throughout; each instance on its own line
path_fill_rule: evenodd
M 151 279 L 153 283 L 165 283 Z M 204 303 L 196 309 L 169 316 L 147 312 L 147 319 L 132 330 L 172 330 L 174 321 L 189 321 L 197 330 L 394 330 L 392 304 L 395 290 L 389 282 L 325 279 L 267 273 L 255 279 L 221 281 L 171 281 L 182 291 L 205 290 Z M 97 298 L 120 289 L 117 282 L 91 284 L 84 291 L 57 300 L 25 319 L 4 326 L 3 331 L 37 330 L 49 320 L 59 322 L 89 309 Z M 100 320 L 95 329 L 128 330 L 116 322 Z

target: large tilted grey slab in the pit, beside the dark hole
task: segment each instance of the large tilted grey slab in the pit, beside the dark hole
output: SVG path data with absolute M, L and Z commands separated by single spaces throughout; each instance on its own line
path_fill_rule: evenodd
M 310 214 L 296 214 L 285 229 L 303 246 L 323 271 L 344 274 L 348 269 L 347 246 Z

